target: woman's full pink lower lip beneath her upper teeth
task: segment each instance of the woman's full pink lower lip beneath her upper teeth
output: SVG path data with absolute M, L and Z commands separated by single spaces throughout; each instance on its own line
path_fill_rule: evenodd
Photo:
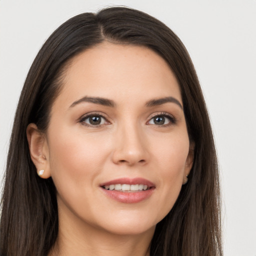
M 154 188 L 141 190 L 138 192 L 122 192 L 118 190 L 107 190 L 101 187 L 103 192 L 110 198 L 124 203 L 136 203 L 147 199 L 153 192 Z

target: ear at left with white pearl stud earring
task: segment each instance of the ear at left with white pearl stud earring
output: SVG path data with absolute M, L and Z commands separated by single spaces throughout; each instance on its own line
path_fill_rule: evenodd
M 45 134 L 39 131 L 34 123 L 29 123 L 26 127 L 26 137 L 37 174 L 41 178 L 50 177 L 49 149 Z

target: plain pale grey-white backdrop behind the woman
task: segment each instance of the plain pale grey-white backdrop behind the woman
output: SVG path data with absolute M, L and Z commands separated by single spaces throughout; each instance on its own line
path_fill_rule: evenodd
M 109 5 L 153 15 L 185 44 L 218 152 L 224 255 L 256 256 L 256 0 L 0 0 L 0 175 L 19 93 L 40 46 L 69 17 Z

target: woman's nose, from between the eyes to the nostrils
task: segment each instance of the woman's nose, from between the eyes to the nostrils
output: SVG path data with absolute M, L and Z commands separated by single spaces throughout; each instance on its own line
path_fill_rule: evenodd
M 144 165 L 148 162 L 146 136 L 139 125 L 122 125 L 114 135 L 112 161 L 115 164 Z

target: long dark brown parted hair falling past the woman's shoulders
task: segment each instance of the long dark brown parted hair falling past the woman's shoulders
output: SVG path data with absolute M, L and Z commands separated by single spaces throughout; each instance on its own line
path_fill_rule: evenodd
M 111 7 L 82 13 L 46 40 L 27 74 L 19 98 L 1 199 L 0 255 L 47 255 L 58 233 L 55 187 L 36 174 L 26 139 L 33 122 L 45 131 L 71 57 L 103 41 L 146 46 L 169 64 L 182 95 L 194 162 L 170 212 L 156 225 L 150 255 L 222 255 L 219 177 L 207 109 L 190 57 L 159 20 L 134 9 Z

